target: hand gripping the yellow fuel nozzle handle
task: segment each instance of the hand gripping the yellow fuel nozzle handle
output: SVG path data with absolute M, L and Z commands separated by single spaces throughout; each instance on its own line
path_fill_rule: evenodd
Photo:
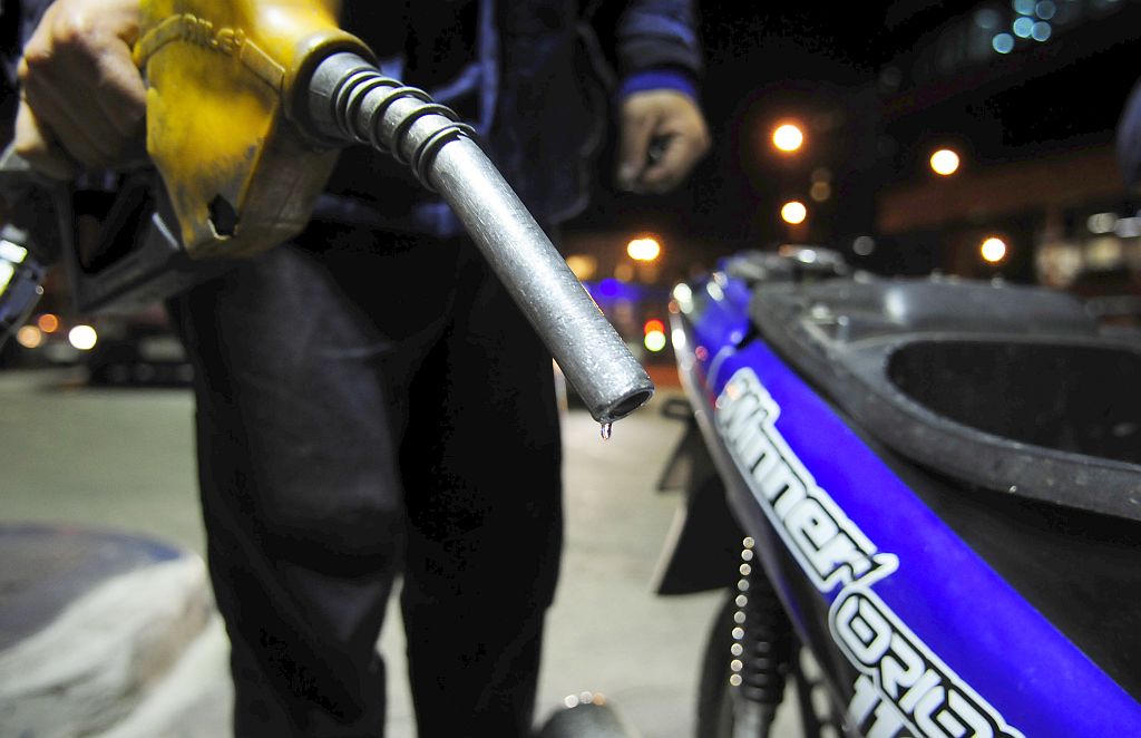
M 67 179 L 141 158 L 146 88 L 131 61 L 138 0 L 56 0 L 19 62 L 16 153 Z

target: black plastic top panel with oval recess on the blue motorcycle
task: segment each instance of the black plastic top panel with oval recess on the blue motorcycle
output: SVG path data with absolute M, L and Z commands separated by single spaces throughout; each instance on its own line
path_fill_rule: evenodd
M 1141 388 L 1107 380 L 1141 367 L 1141 342 L 1101 336 L 1073 298 L 958 280 L 833 280 L 759 286 L 751 318 L 906 458 L 1003 495 L 1141 521 L 1141 465 L 1109 455 L 1141 439 Z M 1074 378 L 1078 356 L 1099 380 Z

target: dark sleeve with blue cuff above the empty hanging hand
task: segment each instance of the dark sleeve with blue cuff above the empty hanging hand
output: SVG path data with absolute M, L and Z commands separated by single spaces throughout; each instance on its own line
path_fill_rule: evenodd
M 702 50 L 693 0 L 632 0 L 618 19 L 621 78 L 647 70 L 702 73 Z

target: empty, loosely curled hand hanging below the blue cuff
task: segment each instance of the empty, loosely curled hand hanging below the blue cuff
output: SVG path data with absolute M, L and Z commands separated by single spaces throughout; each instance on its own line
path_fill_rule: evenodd
M 710 149 L 710 133 L 691 97 L 671 89 L 634 93 L 622 101 L 618 186 L 631 192 L 669 192 Z M 650 155 L 650 144 L 664 149 Z

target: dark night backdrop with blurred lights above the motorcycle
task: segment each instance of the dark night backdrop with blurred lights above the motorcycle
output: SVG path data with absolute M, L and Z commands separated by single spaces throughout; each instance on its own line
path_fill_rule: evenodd
M 1111 150 L 1141 77 L 1135 2 L 704 3 L 701 13 L 713 150 L 666 196 L 615 192 L 604 169 L 594 207 L 568 228 L 572 250 L 601 249 L 600 276 L 604 243 L 621 241 L 621 251 L 626 234 L 652 233 L 663 254 L 650 275 L 666 281 L 785 242 L 828 246 L 883 273 L 1036 281 L 1046 236 L 1081 240 L 1089 234 L 1071 231 L 1094 211 L 1134 215 Z M 769 142 L 783 120 L 804 129 L 792 155 Z M 928 166 L 939 146 L 962 159 L 945 182 Z M 814 182 L 826 183 L 826 199 L 809 196 Z M 920 207 L 919 220 L 892 216 L 915 209 L 914 198 L 938 204 Z M 795 227 L 779 217 L 792 199 L 809 207 Z M 988 230 L 1010 250 L 982 268 L 961 251 Z M 860 235 L 874 240 L 871 251 L 866 240 L 852 249 Z

